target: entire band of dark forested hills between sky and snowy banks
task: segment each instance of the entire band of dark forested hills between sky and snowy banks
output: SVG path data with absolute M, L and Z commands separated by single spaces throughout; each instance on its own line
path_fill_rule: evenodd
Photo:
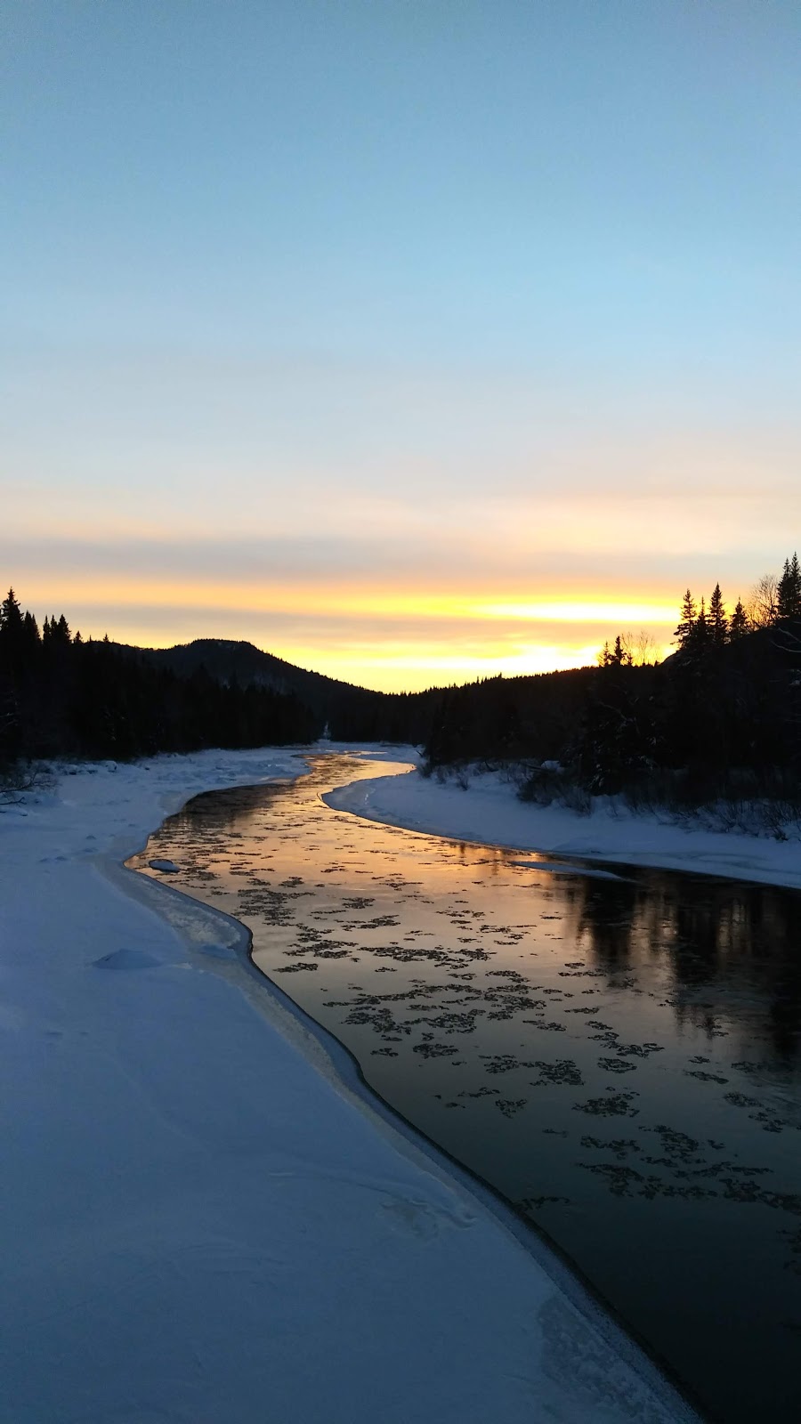
M 295 668 L 252 644 L 168 649 L 38 629 L 10 591 L 0 605 L 0 763 L 56 755 L 131 758 L 204 746 L 388 740 L 425 748 L 429 769 L 516 762 L 527 795 L 554 782 L 584 795 L 708 803 L 801 803 L 801 570 L 760 580 L 728 615 L 687 591 L 677 651 L 637 662 L 631 639 L 599 665 L 383 693 Z M 543 766 L 543 763 L 546 763 Z

